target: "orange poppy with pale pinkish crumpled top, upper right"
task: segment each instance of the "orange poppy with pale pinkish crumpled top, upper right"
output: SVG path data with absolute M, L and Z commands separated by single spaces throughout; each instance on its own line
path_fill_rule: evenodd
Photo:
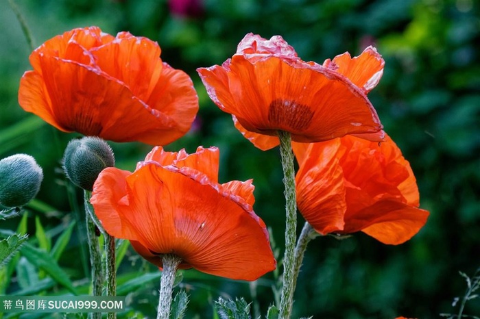
M 302 61 L 280 36 L 247 34 L 231 59 L 197 72 L 235 127 L 265 150 L 279 144 L 279 130 L 296 142 L 346 134 L 382 140 L 379 117 L 366 97 L 382 70 L 383 60 L 372 48 L 361 58 L 345 55 L 322 66 Z

